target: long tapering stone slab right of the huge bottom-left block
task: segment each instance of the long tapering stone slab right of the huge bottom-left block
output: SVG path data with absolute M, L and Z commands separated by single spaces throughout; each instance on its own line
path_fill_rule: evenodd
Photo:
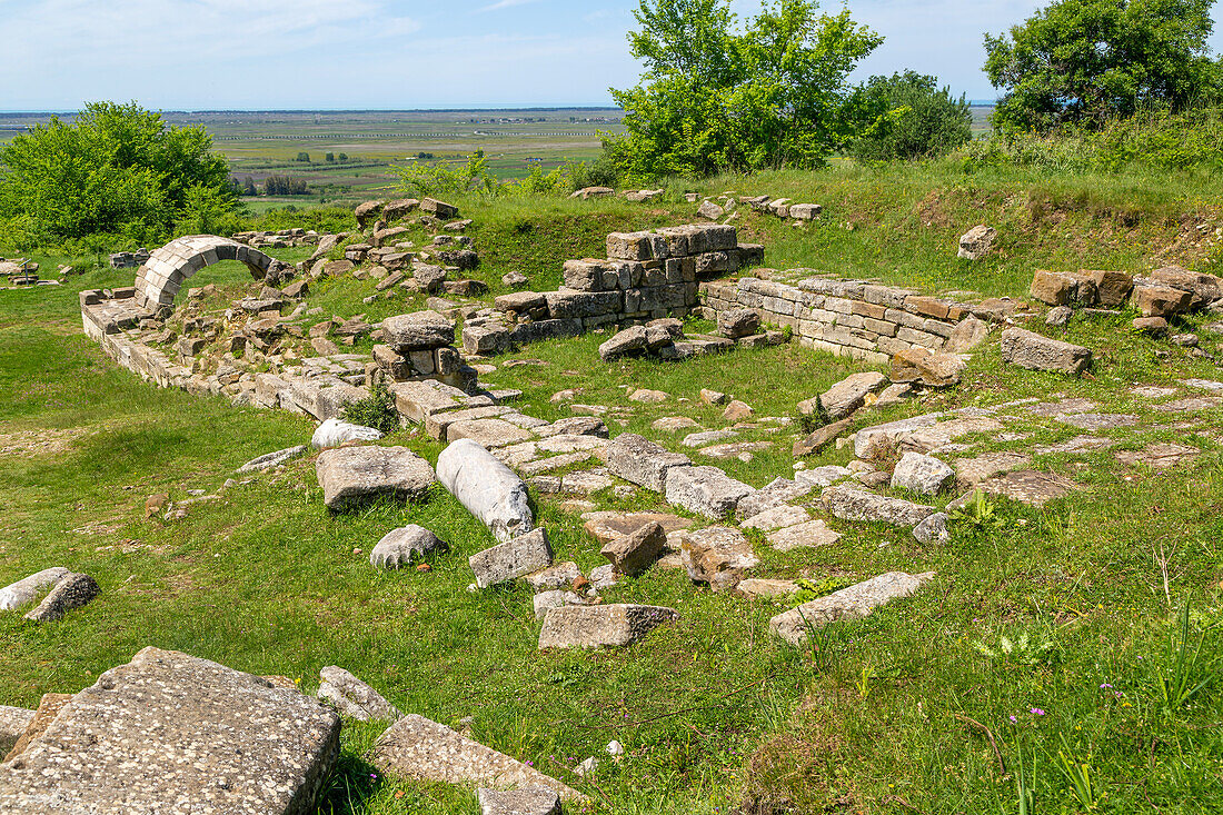
M 369 754 L 379 770 L 405 778 L 497 788 L 544 787 L 564 800 L 586 800 L 586 795 L 555 778 L 415 713 L 391 724 Z

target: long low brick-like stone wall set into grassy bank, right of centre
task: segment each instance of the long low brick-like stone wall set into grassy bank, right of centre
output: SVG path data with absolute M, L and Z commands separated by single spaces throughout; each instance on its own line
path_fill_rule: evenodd
M 958 350 L 953 338 L 963 319 L 997 318 L 1005 310 L 999 302 L 954 302 L 868 280 L 828 277 L 794 284 L 757 278 L 711 280 L 701 284 L 701 300 L 707 317 L 751 308 L 766 323 L 789 327 L 806 348 L 877 365 L 914 348 Z

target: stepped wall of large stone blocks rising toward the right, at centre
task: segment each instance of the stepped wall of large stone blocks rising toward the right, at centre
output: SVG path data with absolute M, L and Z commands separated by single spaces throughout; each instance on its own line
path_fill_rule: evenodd
M 734 226 L 687 224 L 613 233 L 607 253 L 567 261 L 556 291 L 498 297 L 492 310 L 466 321 L 464 350 L 501 354 L 541 339 L 684 317 L 700 305 L 701 280 L 761 262 L 764 247 L 740 244 Z

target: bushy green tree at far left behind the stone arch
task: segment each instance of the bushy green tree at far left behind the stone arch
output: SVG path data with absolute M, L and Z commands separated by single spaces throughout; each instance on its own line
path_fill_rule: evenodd
M 93 103 L 71 124 L 53 116 L 0 146 L 0 221 L 40 245 L 97 234 L 158 242 L 188 190 L 232 195 L 212 147 L 203 127 L 168 126 L 136 103 Z

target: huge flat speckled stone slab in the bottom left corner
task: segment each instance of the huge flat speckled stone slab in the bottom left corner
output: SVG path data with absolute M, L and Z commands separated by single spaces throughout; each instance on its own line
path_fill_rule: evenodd
M 307 815 L 339 748 L 340 717 L 298 690 L 150 647 L 0 765 L 0 811 Z

